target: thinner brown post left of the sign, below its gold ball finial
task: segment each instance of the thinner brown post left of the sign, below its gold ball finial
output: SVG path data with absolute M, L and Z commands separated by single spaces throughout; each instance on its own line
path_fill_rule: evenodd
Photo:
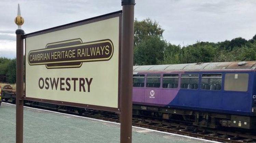
M 23 143 L 23 35 L 16 30 L 16 143 Z

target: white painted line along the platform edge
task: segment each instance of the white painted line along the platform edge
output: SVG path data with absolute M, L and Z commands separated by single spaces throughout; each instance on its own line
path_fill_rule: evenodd
M 11 103 L 6 103 L 6 102 L 2 102 L 2 103 L 16 106 L 15 104 L 11 104 Z M 41 111 L 53 112 L 53 113 L 57 113 L 57 114 L 64 114 L 64 115 L 69 115 L 69 116 L 73 116 L 73 117 L 85 118 L 85 119 L 96 120 L 96 121 L 101 121 L 101 122 L 107 122 L 107 123 L 112 123 L 112 124 L 118 124 L 118 125 L 120 125 L 120 123 L 116 123 L 116 122 L 110 122 L 110 121 L 99 120 L 99 119 L 94 119 L 94 118 L 82 117 L 82 116 L 78 116 L 78 115 L 72 115 L 72 114 L 67 114 L 67 113 L 60 113 L 60 112 L 56 112 L 56 111 L 45 110 L 45 109 L 38 109 L 38 108 L 27 107 L 27 106 L 24 106 L 24 107 L 25 107 L 25 108 L 30 108 L 30 109 L 36 109 L 36 110 L 41 110 Z M 170 133 L 170 132 L 164 132 L 164 131 L 158 131 L 158 130 L 153 130 L 153 129 L 147 129 L 147 128 L 142 128 L 142 127 L 137 127 L 137 126 L 132 126 L 132 127 L 133 127 L 133 128 L 138 128 L 138 129 L 145 129 L 145 130 L 149 130 L 149 131 L 155 131 L 155 132 L 165 133 L 165 134 L 168 134 L 168 135 L 175 135 L 175 136 L 186 137 L 186 138 L 190 138 L 190 139 L 201 140 L 201 141 L 207 141 L 207 142 L 213 142 L 213 143 L 221 143 L 221 142 L 216 142 L 216 141 L 211 141 L 211 140 L 206 140 L 206 139 L 200 139 L 200 138 L 195 138 L 195 137 L 189 137 L 189 136 L 179 135 L 179 134 Z

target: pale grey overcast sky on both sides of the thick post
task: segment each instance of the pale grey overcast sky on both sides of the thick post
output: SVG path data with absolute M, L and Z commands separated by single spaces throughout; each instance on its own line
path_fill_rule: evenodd
M 256 34 L 256 0 L 135 0 L 135 18 L 156 20 L 167 42 L 186 46 Z M 122 10 L 121 0 L 0 0 L 0 57 L 15 58 L 17 4 L 31 33 Z

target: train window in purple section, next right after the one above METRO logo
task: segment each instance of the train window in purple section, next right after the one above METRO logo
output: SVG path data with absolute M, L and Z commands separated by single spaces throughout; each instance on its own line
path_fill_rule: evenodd
M 178 74 L 164 74 L 163 88 L 178 88 L 179 75 Z

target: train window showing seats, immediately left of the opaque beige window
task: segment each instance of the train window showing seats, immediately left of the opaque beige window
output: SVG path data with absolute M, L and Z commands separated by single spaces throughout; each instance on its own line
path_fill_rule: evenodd
M 202 74 L 201 89 L 220 90 L 222 74 Z

